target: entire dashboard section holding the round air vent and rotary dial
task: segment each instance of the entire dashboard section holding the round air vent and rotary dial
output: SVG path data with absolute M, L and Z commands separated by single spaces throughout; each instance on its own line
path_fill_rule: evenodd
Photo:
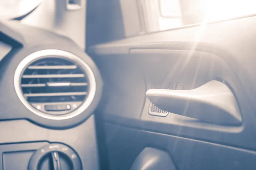
M 93 60 L 49 31 L 16 21 L 0 31 L 0 169 L 99 169 L 92 113 L 102 78 Z

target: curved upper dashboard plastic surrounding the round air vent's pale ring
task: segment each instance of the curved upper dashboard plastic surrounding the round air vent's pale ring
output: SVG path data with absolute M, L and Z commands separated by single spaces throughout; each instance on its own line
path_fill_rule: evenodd
M 0 72 L 2 73 L 0 93 L 5 96 L 5 98 L 0 99 L 0 119 L 30 119 L 38 124 L 55 128 L 71 127 L 87 119 L 98 105 L 102 92 L 101 76 L 93 60 L 66 37 L 39 28 L 24 26 L 17 22 L 11 22 L 8 26 L 10 30 L 14 28 L 18 30 L 24 42 L 22 49 L 17 51 L 16 54 L 7 55 L 0 63 Z M 35 38 L 35 35 L 37 35 L 37 38 Z M 15 39 L 15 37 L 12 38 Z M 59 49 L 75 54 L 83 59 L 93 71 L 96 79 L 96 94 L 91 105 L 78 116 L 57 121 L 45 119 L 29 111 L 18 98 L 13 82 L 17 65 L 29 54 L 44 49 Z M 10 107 L 10 103 L 15 103 L 15 107 Z

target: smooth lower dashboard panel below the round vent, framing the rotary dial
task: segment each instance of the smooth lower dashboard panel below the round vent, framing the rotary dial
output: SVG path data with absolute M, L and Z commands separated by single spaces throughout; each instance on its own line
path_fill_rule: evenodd
M 47 129 L 27 120 L 1 121 L 0 136 L 0 151 L 2 151 L 1 146 L 4 146 L 3 144 L 6 143 L 25 143 L 32 141 L 64 143 L 73 148 L 79 155 L 83 169 L 99 170 L 94 115 L 91 115 L 86 122 L 65 130 Z M 44 142 L 44 144 L 32 150 L 37 150 L 48 144 L 47 142 Z M 28 145 L 29 144 L 31 143 L 28 143 Z M 12 147 L 12 145 L 10 145 L 10 147 Z M 12 148 L 13 150 L 20 150 L 22 145 L 20 144 L 20 147 Z M 0 170 L 2 170 L 1 166 Z

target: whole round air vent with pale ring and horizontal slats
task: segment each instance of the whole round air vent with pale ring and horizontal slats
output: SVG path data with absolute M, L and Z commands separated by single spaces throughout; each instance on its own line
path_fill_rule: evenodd
M 33 113 L 47 119 L 69 119 L 93 101 L 96 83 L 84 60 L 66 51 L 43 50 L 22 60 L 15 90 Z

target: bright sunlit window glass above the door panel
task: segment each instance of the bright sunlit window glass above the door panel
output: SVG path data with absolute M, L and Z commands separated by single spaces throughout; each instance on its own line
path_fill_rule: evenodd
M 256 0 L 145 0 L 144 4 L 146 32 L 256 14 Z

